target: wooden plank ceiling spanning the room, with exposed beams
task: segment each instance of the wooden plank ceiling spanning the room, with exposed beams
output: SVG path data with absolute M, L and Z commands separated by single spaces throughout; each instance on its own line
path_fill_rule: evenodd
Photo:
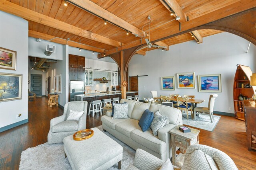
M 79 3 L 79 0 L 70 1 L 76 4 Z M 87 0 L 83 1 L 88 3 L 86 2 Z M 139 36 L 143 36 L 143 31 L 148 34 L 147 17 L 151 16 L 151 41 L 162 38 L 166 35 L 172 35 L 171 33 L 168 34 L 168 32 L 171 32 L 170 30 L 172 29 L 178 29 L 179 22 L 181 22 L 182 25 L 183 23 L 186 23 L 187 20 L 187 18 L 182 18 L 180 21 L 175 20 L 176 16 L 170 15 L 170 9 L 166 8 L 163 1 L 175 4 L 173 8 L 179 12 L 180 16 L 187 16 L 189 21 L 196 20 L 197 18 L 205 15 L 207 16 L 226 7 L 235 8 L 236 10 L 234 10 L 233 13 L 237 13 L 249 8 L 247 6 L 250 6 L 250 8 L 256 6 L 256 1 L 253 0 L 91 0 L 91 2 L 100 7 L 99 10 L 107 10 L 114 14 L 117 19 L 124 20 L 123 23 L 127 22 L 127 24 L 129 24 L 129 28 L 142 30 L 142 33 L 138 33 Z M 53 40 L 58 43 L 65 43 L 64 40 L 70 38 L 71 41 L 77 42 L 70 43 L 70 45 L 74 47 L 77 46 L 84 49 L 88 47 L 87 49 L 89 50 L 101 53 L 106 53 L 107 51 L 113 50 L 119 46 L 131 46 L 131 44 L 140 43 L 140 37 L 136 37 L 132 33 L 129 33 L 128 35 L 126 34 L 128 26 L 127 28 L 123 27 L 124 29 L 121 29 L 109 22 L 105 25 L 105 21 L 102 20 L 102 18 L 94 16 L 89 12 L 70 4 L 69 2 L 66 2 L 67 6 L 65 6 L 64 0 L 6 0 L 5 2 L 6 4 L 3 0 L 1 1 L 0 10 L 17 16 L 22 16 L 28 20 L 29 35 L 32 37 L 42 39 L 58 37 L 61 39 L 57 40 L 58 38 L 55 38 L 55 40 Z M 7 4 L 8 2 L 11 3 Z M 249 4 L 244 6 L 245 3 Z M 20 9 L 20 12 L 17 12 L 18 10 L 16 9 L 16 6 L 12 6 L 14 4 L 23 7 L 22 9 L 27 8 L 30 11 L 28 11 L 28 14 L 19 15 L 22 13 L 22 9 Z M 10 5 L 10 7 L 3 7 L 7 5 Z M 240 9 L 240 6 L 243 6 L 243 8 Z M 42 14 L 43 17 L 47 16 L 54 19 L 52 22 L 56 22 L 56 24 L 54 25 L 54 23 L 51 22 L 44 22 L 42 15 L 34 15 L 37 13 Z M 104 16 L 104 14 L 102 15 Z M 34 18 L 32 19 L 32 16 L 40 19 L 37 21 Z M 48 20 L 47 17 L 45 17 L 44 20 Z M 110 16 L 106 16 L 106 18 L 110 18 Z M 68 31 L 66 26 L 58 27 L 58 25 L 61 25 L 62 23 L 69 24 L 70 31 Z M 74 29 L 72 29 L 72 27 Z M 75 32 L 74 30 L 77 30 L 78 32 Z M 88 33 L 88 36 L 84 36 L 84 30 L 87 31 L 86 33 Z M 201 37 L 206 37 L 220 32 L 221 31 L 216 30 L 198 30 Z M 93 36 L 91 34 L 93 34 Z M 101 37 L 104 37 L 104 39 L 99 41 Z M 190 33 L 186 33 L 184 35 L 166 39 L 159 44 L 165 43 L 166 45 L 174 45 L 191 40 L 194 40 L 194 38 L 191 37 Z M 79 45 L 79 42 L 84 45 Z M 144 39 L 142 39 L 142 43 L 145 43 Z M 146 48 L 144 51 L 152 49 Z M 142 54 L 142 52 L 140 53 Z

